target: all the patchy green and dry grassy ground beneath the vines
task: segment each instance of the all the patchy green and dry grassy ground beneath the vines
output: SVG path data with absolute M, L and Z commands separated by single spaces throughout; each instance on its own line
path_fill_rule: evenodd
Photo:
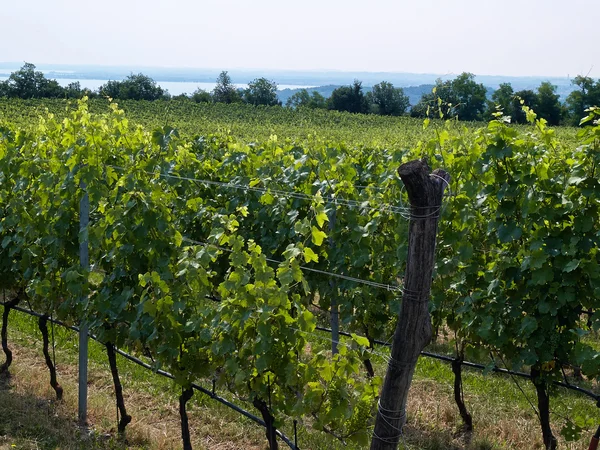
M 125 402 L 133 422 L 126 439 L 116 436 L 116 407 L 104 348 L 90 344 L 89 422 L 81 431 L 77 416 L 77 336 L 55 329 L 59 382 L 65 388 L 62 402 L 54 400 L 48 371 L 41 355 L 41 336 L 36 321 L 12 312 L 9 343 L 14 351 L 10 376 L 0 380 L 0 448 L 23 449 L 176 449 L 180 448 L 177 392 L 173 384 L 123 358 L 119 368 Z M 383 374 L 385 351 L 374 357 L 376 371 Z M 483 376 L 478 371 L 464 374 L 465 400 L 475 431 L 461 432 L 461 420 L 452 397 L 452 372 L 447 364 L 421 358 L 411 388 L 408 424 L 403 446 L 414 450 L 441 449 L 541 449 L 539 425 L 525 398 L 535 403 L 530 383 L 520 380 L 523 392 L 504 376 Z M 225 395 L 225 394 L 224 394 Z M 237 401 L 239 402 L 239 400 Z M 265 448 L 262 429 L 234 411 L 196 393 L 190 402 L 190 424 L 194 448 Z M 251 412 L 251 406 L 245 406 Z M 557 389 L 552 397 L 555 433 L 565 417 L 587 411 L 600 421 L 593 402 L 575 393 Z M 580 441 L 561 448 L 580 449 L 589 442 L 593 426 Z M 293 435 L 289 428 L 284 432 Z M 331 436 L 299 428 L 302 449 L 338 450 L 344 447 Z

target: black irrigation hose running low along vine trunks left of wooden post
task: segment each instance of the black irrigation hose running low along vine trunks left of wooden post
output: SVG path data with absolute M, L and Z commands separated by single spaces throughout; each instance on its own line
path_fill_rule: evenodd
M 0 302 L 0 305 L 2 305 L 3 307 L 6 307 L 6 305 L 5 305 L 4 303 L 2 303 L 2 302 Z M 19 312 L 22 312 L 22 313 L 25 313 L 25 314 L 29 314 L 30 316 L 34 316 L 34 317 L 48 317 L 46 314 L 41 314 L 41 313 L 38 313 L 38 312 L 36 312 L 36 311 L 32 311 L 32 310 L 30 310 L 30 309 L 26 309 L 26 308 L 21 308 L 20 306 L 11 306 L 11 307 L 10 307 L 10 309 L 14 309 L 15 311 L 19 311 Z M 66 323 L 64 323 L 64 322 L 61 322 L 60 320 L 52 319 L 52 318 L 49 318 L 49 317 L 48 317 L 48 321 L 49 321 L 49 322 L 52 322 L 52 323 L 54 323 L 54 324 L 56 324 L 56 325 L 59 325 L 59 326 L 61 326 L 61 327 L 64 327 L 64 328 L 66 328 L 66 329 L 68 329 L 68 330 L 75 331 L 76 333 L 79 333 L 79 328 L 78 328 L 78 327 L 76 327 L 76 326 L 73 326 L 73 325 L 67 325 Z M 89 336 L 90 338 L 92 338 L 93 340 L 95 340 L 96 342 L 99 342 L 100 344 L 102 344 L 102 345 L 105 345 L 105 344 L 104 344 L 104 342 L 100 341 L 100 339 L 98 339 L 98 337 L 97 337 L 97 336 L 95 336 L 95 335 L 93 335 L 93 334 L 91 334 L 91 333 L 88 333 L 88 336 Z M 118 348 L 116 348 L 116 347 L 115 347 L 115 352 L 116 352 L 116 353 L 118 353 L 119 355 L 123 356 L 125 359 L 128 359 L 129 361 L 131 361 L 131 362 L 133 362 L 133 363 L 137 364 L 138 366 L 141 366 L 141 367 L 143 367 L 144 369 L 151 370 L 152 372 L 154 372 L 154 373 L 156 373 L 156 374 L 158 374 L 158 375 L 161 375 L 161 376 L 163 376 L 163 377 L 165 377 L 165 378 L 169 378 L 169 379 L 171 379 L 171 380 L 174 380 L 174 379 L 175 379 L 175 376 L 174 376 L 174 375 L 172 375 L 171 373 L 169 373 L 169 372 L 166 372 L 166 371 L 164 371 L 164 370 L 161 370 L 161 369 L 158 369 L 158 370 L 156 370 L 156 369 L 154 369 L 154 368 L 153 368 L 153 367 L 152 367 L 150 364 L 148 364 L 148 363 L 145 363 L 145 362 L 144 362 L 144 361 L 142 361 L 141 359 L 139 359 L 139 358 L 136 358 L 135 356 L 133 356 L 133 355 L 130 355 L 129 353 L 127 353 L 127 352 L 124 352 L 124 351 L 123 351 L 123 350 L 121 350 L 121 349 L 118 349 Z M 208 396 L 209 396 L 210 398 L 212 398 L 213 400 L 216 400 L 216 401 L 218 401 L 219 403 L 222 403 L 223 405 L 227 406 L 228 408 L 231 408 L 231 409 L 233 409 L 233 410 L 234 410 L 234 411 L 236 411 L 237 413 L 239 413 L 239 414 L 241 414 L 241 415 L 243 415 L 243 416 L 247 417 L 248 419 L 252 420 L 253 422 L 255 422 L 255 423 L 259 424 L 260 426 L 262 426 L 262 427 L 264 427 L 264 428 L 266 428 L 266 424 L 265 424 L 265 421 L 264 421 L 264 420 L 262 420 L 262 419 L 261 419 L 261 418 L 259 418 L 259 417 L 256 417 L 255 415 L 253 415 L 252 413 L 250 413 L 250 412 L 246 411 L 245 409 L 241 408 L 240 406 L 236 405 L 235 403 L 232 403 L 232 402 L 230 402 L 229 400 L 227 400 L 227 399 L 225 399 L 225 398 L 223 398 L 223 397 L 221 397 L 221 396 L 219 396 L 219 395 L 215 394 L 213 391 L 211 391 L 211 390 L 208 390 L 208 389 L 206 389 L 206 388 L 203 388 L 202 386 L 200 386 L 200 385 L 198 385 L 198 384 L 196 384 L 196 383 L 192 383 L 192 384 L 191 384 L 191 387 L 192 387 L 193 389 L 197 390 L 197 391 L 200 391 L 200 392 L 202 392 L 203 394 L 206 394 L 206 395 L 208 395 Z M 291 448 L 292 450 L 300 450 L 300 449 L 299 449 L 299 448 L 298 448 L 298 447 L 297 447 L 297 446 L 296 446 L 296 445 L 295 445 L 295 444 L 294 444 L 294 443 L 293 443 L 293 442 L 292 442 L 292 441 L 291 441 L 291 440 L 290 440 L 290 439 L 289 439 L 289 438 L 288 438 L 288 437 L 287 437 L 285 434 L 283 434 L 281 431 L 279 431 L 279 430 L 275 430 L 275 432 L 277 433 L 277 436 L 279 436 L 279 438 L 280 438 L 280 439 L 281 439 L 283 442 L 285 442 L 289 448 Z

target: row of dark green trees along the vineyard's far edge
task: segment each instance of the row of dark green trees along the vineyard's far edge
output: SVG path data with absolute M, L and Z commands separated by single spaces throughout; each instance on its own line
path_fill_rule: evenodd
M 387 81 L 376 84 L 363 92 L 362 83 L 340 86 L 329 98 L 317 91 L 301 89 L 286 102 L 288 108 L 311 108 L 347 111 L 351 113 L 379 114 L 412 117 L 453 118 L 477 121 L 489 120 L 494 113 L 509 116 L 513 123 L 525 123 L 522 106 L 532 108 L 540 118 L 550 125 L 579 125 L 585 110 L 600 105 L 600 80 L 577 76 L 573 80 L 577 90 L 571 92 L 564 103 L 559 100 L 556 86 L 543 82 L 533 90 L 515 92 L 510 83 L 502 83 L 488 99 L 487 88 L 475 81 L 475 75 L 462 73 L 452 80 L 438 79 L 432 92 L 424 94 L 411 107 L 402 88 Z M 131 74 L 122 81 L 108 81 L 97 91 L 82 89 L 79 82 L 66 87 L 56 80 L 47 79 L 35 66 L 25 63 L 13 72 L 8 80 L 0 82 L 0 97 L 17 98 L 81 98 L 110 97 L 119 100 L 190 100 L 197 103 L 246 103 L 250 105 L 282 106 L 277 97 L 277 83 L 266 78 L 257 78 L 246 89 L 237 88 L 226 71 L 221 72 L 212 92 L 197 89 L 191 95 L 172 97 L 152 78 L 144 74 Z

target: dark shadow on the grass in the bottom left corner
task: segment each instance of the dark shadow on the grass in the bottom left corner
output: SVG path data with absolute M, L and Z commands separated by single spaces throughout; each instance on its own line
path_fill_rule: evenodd
M 64 415 L 56 401 L 16 392 L 9 373 L 0 374 L 0 405 L 0 448 L 140 448 L 117 436 L 81 429 L 73 417 Z

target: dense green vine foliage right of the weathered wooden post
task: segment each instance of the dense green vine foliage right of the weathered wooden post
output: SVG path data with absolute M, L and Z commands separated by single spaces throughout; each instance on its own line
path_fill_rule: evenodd
M 438 294 L 435 314 L 447 314 L 467 342 L 512 367 L 538 367 L 551 378 L 569 362 L 596 377 L 596 351 L 581 340 L 596 325 L 581 311 L 597 307 L 597 182 L 590 177 L 599 141 L 590 129 L 580 136 L 583 146 L 561 146 L 545 120 L 534 125 L 534 133 L 521 134 L 492 121 L 463 162 L 453 151 L 454 164 L 472 164 L 462 183 L 476 198 L 455 199 L 461 220 L 442 230 L 442 248 L 446 239 L 454 244 L 436 284 L 450 286 L 451 295 Z

